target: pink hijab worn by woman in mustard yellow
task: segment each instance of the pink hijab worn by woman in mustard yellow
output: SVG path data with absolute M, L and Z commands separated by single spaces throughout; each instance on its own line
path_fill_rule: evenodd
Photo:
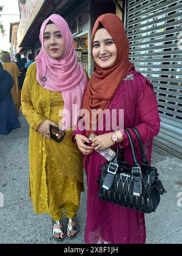
M 49 21 L 52 21 L 58 27 L 66 44 L 66 51 L 59 60 L 52 59 L 44 49 L 44 30 Z M 86 74 L 84 73 L 83 67 L 77 62 L 76 52 L 73 45 L 73 37 L 69 26 L 60 15 L 50 15 L 49 18 L 44 21 L 41 26 L 39 39 L 41 41 L 42 48 L 35 59 L 37 67 L 36 79 L 39 84 L 42 85 L 42 77 L 46 77 L 44 88 L 50 91 L 58 91 L 62 93 L 64 101 L 64 120 L 62 128 L 70 129 L 70 127 L 76 124 L 77 115 L 81 109 L 84 89 L 87 85 Z M 75 104 L 77 105 L 77 112 L 73 113 L 72 105 Z M 66 124 L 65 121 L 67 119 L 67 111 L 71 114 L 70 126 Z M 72 115 L 74 115 L 74 117 Z

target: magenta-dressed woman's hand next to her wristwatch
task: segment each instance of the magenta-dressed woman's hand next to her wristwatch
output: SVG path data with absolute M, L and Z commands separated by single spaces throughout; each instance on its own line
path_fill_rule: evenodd
M 112 141 L 112 132 L 96 136 L 92 142 L 91 146 L 95 148 L 95 151 L 98 149 L 107 149 L 115 144 L 115 142 Z

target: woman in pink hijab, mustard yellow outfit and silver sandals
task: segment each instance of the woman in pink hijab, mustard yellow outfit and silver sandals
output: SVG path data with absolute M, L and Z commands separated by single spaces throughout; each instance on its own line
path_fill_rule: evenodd
M 72 143 L 73 122 L 69 125 L 66 116 L 62 119 L 66 135 L 61 143 L 51 139 L 50 126 L 58 127 L 60 110 L 70 116 L 73 105 L 80 110 L 87 77 L 77 62 L 69 26 L 61 16 L 45 20 L 39 38 L 42 48 L 29 66 L 21 96 L 22 112 L 30 124 L 30 197 L 36 213 L 52 216 L 53 238 L 62 241 L 63 210 L 67 236 L 73 238 L 77 233 L 75 216 L 84 191 L 83 156 Z

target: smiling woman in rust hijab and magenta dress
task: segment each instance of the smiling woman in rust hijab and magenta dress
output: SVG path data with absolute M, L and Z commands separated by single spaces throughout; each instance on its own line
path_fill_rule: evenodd
M 83 109 L 124 110 L 124 128 L 130 130 L 137 157 L 140 159 L 138 141 L 130 129 L 134 126 L 141 135 L 147 160 L 151 161 L 152 139 L 160 130 L 157 99 L 152 84 L 142 74 L 135 71 L 129 62 L 129 41 L 121 20 L 114 14 L 102 15 L 96 20 L 92 32 L 92 55 L 95 69 L 87 85 L 83 99 Z M 90 115 L 92 120 L 92 115 Z M 87 221 L 86 243 L 144 244 L 146 227 L 144 214 L 98 199 L 101 166 L 107 162 L 98 149 L 111 147 L 116 143 L 125 149 L 127 163 L 132 165 L 129 140 L 123 129 L 98 127 L 93 143 L 88 146 L 92 127 L 85 118 L 85 127 L 90 129 L 75 131 L 75 141 L 84 154 L 84 169 L 87 173 Z M 104 119 L 105 120 L 105 119 Z M 112 120 L 110 120 L 112 123 Z

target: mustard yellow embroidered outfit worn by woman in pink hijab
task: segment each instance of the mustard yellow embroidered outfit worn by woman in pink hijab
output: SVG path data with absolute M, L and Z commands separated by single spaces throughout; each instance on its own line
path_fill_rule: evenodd
M 61 93 L 39 85 L 36 63 L 27 71 L 21 104 L 30 124 L 30 197 L 36 213 L 49 213 L 56 220 L 65 205 L 79 207 L 80 192 L 84 190 L 83 156 L 72 143 L 72 130 L 66 131 L 61 143 L 45 139 L 36 132 L 45 119 L 58 123 L 59 110 L 64 107 Z

